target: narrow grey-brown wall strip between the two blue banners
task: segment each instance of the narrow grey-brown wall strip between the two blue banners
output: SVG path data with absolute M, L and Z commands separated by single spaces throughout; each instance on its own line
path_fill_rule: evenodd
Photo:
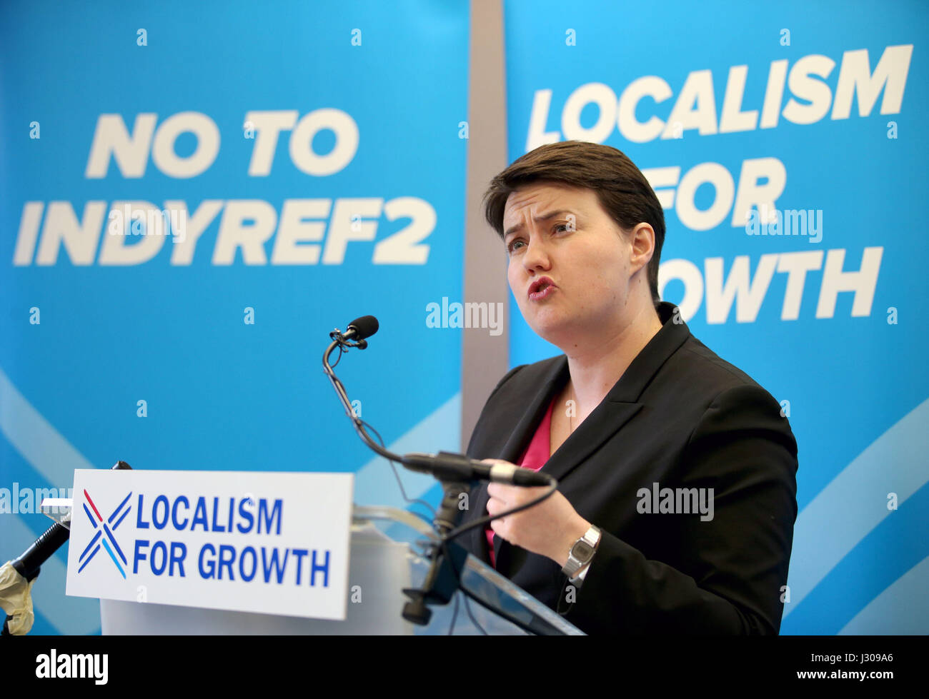
M 506 82 L 502 0 L 471 0 L 464 302 L 487 304 L 497 329 L 462 330 L 462 450 L 487 396 L 506 373 L 509 286 L 504 246 L 484 222 L 481 197 L 506 167 Z M 492 304 L 492 305 L 491 305 Z M 502 311 L 503 317 L 496 317 Z M 490 316 L 490 313 L 488 314 Z M 500 331 L 495 335 L 491 332 Z

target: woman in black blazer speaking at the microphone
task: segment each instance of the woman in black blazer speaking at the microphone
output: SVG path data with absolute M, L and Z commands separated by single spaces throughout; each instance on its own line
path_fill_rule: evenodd
M 555 143 L 484 202 L 519 310 L 564 354 L 504 376 L 467 453 L 559 487 L 465 548 L 587 633 L 778 633 L 796 441 L 779 403 L 661 302 L 645 176 L 617 149 Z M 481 485 L 464 522 L 539 495 Z

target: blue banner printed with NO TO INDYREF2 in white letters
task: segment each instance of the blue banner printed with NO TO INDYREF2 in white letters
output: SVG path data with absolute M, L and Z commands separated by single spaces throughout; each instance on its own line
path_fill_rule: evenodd
M 0 556 L 75 468 L 356 472 L 405 506 L 321 369 L 399 449 L 460 442 L 468 6 L 0 7 Z M 415 348 L 411 352 L 411 348 Z M 404 476 L 411 497 L 429 479 Z M 51 491 L 51 492 L 50 492 Z M 64 552 L 33 633 L 93 633 Z

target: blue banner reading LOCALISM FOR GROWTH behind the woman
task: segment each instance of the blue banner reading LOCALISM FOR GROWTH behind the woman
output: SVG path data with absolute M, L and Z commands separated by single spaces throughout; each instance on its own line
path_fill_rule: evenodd
M 509 160 L 625 152 L 664 208 L 662 299 L 791 421 L 781 633 L 929 632 L 929 6 L 504 8 Z M 561 354 L 511 302 L 511 364 Z

